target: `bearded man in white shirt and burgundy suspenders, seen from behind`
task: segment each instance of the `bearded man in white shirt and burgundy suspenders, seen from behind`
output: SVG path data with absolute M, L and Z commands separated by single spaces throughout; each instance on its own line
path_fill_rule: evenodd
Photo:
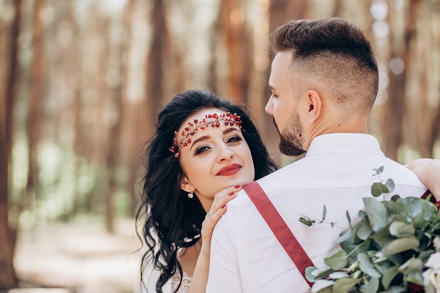
M 426 191 L 368 134 L 379 75 L 371 44 L 359 28 L 338 18 L 291 21 L 277 28 L 270 42 L 277 54 L 266 112 L 274 117 L 281 152 L 307 154 L 249 185 L 228 204 L 212 237 L 208 293 L 308 292 L 305 269 L 326 268 L 324 258 L 337 251 L 332 241 L 341 230 L 324 224 L 310 229 L 298 221 L 300 214 L 319 219 L 326 205 L 331 222 L 345 228 L 346 210 L 355 222 L 362 198 L 378 180 L 374 168 L 384 166 L 381 178 L 394 180 L 393 194 Z M 276 227 L 269 228 L 262 214 Z

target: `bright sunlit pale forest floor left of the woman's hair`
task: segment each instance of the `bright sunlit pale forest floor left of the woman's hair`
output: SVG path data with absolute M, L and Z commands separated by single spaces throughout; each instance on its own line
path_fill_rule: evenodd
M 118 219 L 115 228 L 109 234 L 104 221 L 90 216 L 22 228 L 14 260 L 19 287 L 67 289 L 60 293 L 133 292 L 141 257 L 134 251 L 140 242 L 132 220 Z

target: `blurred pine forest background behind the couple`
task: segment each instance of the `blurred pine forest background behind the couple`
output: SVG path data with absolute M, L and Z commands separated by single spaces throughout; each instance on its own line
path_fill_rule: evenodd
M 370 132 L 400 163 L 439 158 L 439 15 L 439 0 L 0 0 L 0 289 L 132 291 L 142 144 L 177 92 L 246 103 L 291 162 L 264 113 L 267 37 L 290 20 L 361 27 L 380 71 Z

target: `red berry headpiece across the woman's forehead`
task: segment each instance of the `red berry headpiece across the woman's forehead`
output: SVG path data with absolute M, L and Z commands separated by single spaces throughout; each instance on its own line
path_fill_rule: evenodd
M 231 114 L 229 112 L 220 115 L 217 115 L 216 113 L 208 114 L 205 115 L 205 118 L 202 121 L 194 119 L 194 123 L 188 122 L 188 126 L 186 126 L 185 130 L 181 133 L 178 133 L 177 131 L 174 132 L 177 137 L 174 138 L 174 144 L 169 148 L 169 150 L 170 152 L 174 153 L 175 158 L 178 158 L 178 149 L 182 148 L 183 146 L 188 146 L 188 144 L 191 144 L 190 136 L 196 134 L 199 129 L 205 129 L 209 126 L 220 127 L 221 123 L 224 123 L 225 126 L 235 125 L 242 129 L 242 121 L 240 121 L 240 119 L 241 117 L 238 116 L 237 113 Z

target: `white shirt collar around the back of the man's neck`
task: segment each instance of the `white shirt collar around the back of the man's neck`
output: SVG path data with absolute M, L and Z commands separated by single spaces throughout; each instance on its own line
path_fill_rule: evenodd
M 363 133 L 330 133 L 313 139 L 306 157 L 329 153 L 366 153 L 385 156 L 377 139 Z

